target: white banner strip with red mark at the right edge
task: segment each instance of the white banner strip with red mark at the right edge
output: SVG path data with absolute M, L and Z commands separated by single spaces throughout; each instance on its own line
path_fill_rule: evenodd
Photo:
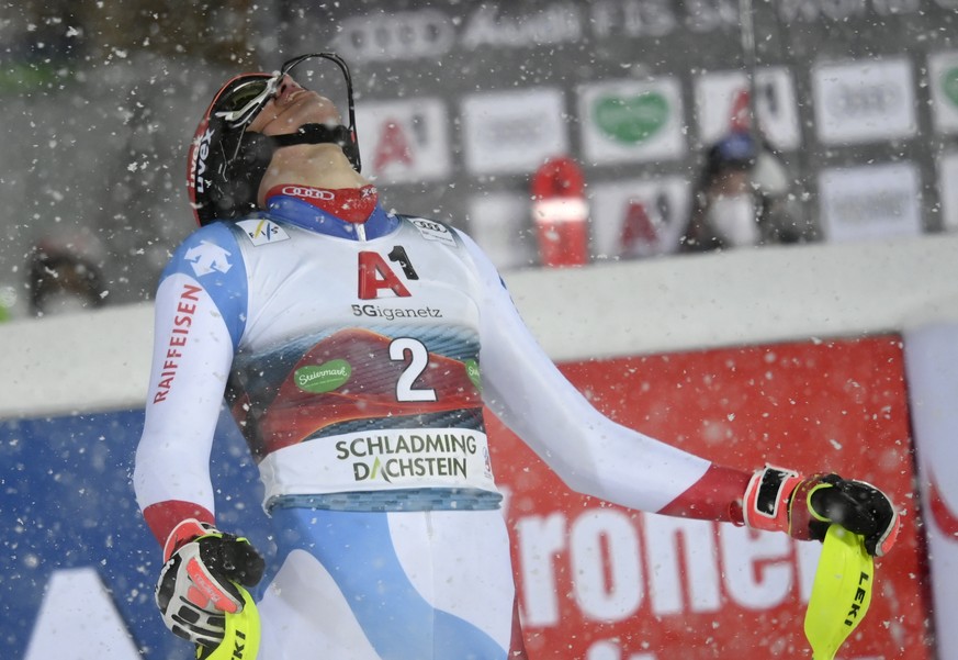
M 915 327 L 904 339 L 935 640 L 938 658 L 958 658 L 958 322 Z

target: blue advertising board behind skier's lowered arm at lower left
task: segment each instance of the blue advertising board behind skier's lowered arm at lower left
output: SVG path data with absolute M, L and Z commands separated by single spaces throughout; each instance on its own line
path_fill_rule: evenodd
M 81 567 L 97 570 L 143 658 L 193 657 L 189 644 L 166 630 L 153 601 L 160 550 L 131 482 L 143 416 L 132 410 L 0 422 L 3 658 L 24 657 L 54 572 Z M 217 438 L 217 523 L 269 555 L 259 477 L 225 414 Z

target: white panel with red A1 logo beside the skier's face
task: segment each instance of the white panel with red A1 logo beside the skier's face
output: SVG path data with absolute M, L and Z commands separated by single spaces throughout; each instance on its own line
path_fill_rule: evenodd
M 410 183 L 450 174 L 449 119 L 438 99 L 363 102 L 356 109 L 363 174 Z

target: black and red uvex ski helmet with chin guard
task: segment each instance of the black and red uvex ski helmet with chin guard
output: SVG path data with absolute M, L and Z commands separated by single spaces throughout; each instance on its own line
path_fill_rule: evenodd
M 298 64 L 328 59 L 346 79 L 349 125 L 306 124 L 288 135 L 263 135 L 247 127 L 279 91 L 283 76 Z M 337 144 L 360 171 L 356 109 L 349 67 L 335 53 L 311 53 L 283 63 L 273 74 L 236 76 L 226 82 L 203 114 L 187 156 L 187 190 L 200 225 L 247 215 L 257 209 L 260 181 L 278 148 L 295 144 Z

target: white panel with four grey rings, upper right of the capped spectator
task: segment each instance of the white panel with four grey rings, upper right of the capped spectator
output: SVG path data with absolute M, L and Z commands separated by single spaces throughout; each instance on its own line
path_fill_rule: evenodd
M 904 57 L 812 69 L 815 125 L 824 144 L 911 137 L 917 133 L 911 61 Z

